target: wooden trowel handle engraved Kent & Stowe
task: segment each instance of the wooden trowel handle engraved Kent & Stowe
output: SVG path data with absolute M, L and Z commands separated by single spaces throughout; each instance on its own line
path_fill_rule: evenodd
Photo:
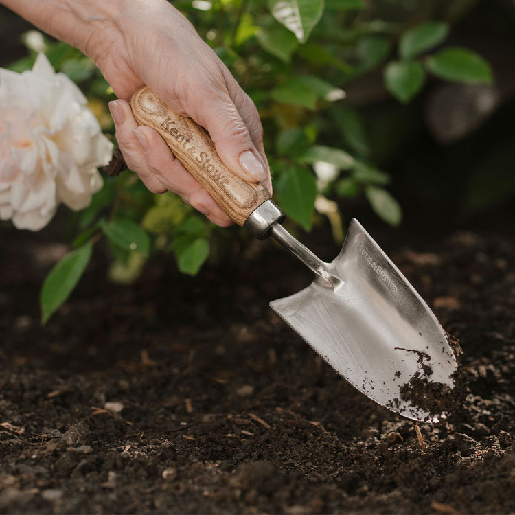
M 174 113 L 148 87 L 134 93 L 130 106 L 138 124 L 157 130 L 184 168 L 238 225 L 270 198 L 264 186 L 247 183 L 222 163 L 205 129 Z

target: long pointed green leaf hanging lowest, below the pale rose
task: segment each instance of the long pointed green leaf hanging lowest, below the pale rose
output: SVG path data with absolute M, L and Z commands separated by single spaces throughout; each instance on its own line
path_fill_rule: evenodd
M 79 249 L 67 253 L 47 275 L 39 298 L 41 323 L 47 323 L 69 297 L 86 270 L 92 251 L 93 244 L 87 242 Z

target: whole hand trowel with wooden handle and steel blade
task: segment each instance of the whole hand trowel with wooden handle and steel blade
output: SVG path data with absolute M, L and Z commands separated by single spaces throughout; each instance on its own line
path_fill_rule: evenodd
M 265 187 L 226 168 L 201 126 L 147 87 L 130 105 L 137 122 L 157 130 L 234 222 L 260 240 L 272 236 L 314 272 L 310 286 L 271 302 L 279 317 L 378 404 L 416 421 L 438 422 L 449 414 L 457 361 L 446 333 L 357 220 L 336 259 L 321 261 L 284 229 L 284 214 Z

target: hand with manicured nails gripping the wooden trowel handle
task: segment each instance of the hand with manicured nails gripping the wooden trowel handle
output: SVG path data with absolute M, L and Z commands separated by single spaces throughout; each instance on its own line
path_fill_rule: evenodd
M 118 144 L 128 167 L 150 191 L 176 192 L 212 222 L 230 225 L 227 214 L 174 159 L 161 136 L 137 126 L 127 100 L 146 84 L 176 113 L 207 129 L 229 170 L 250 182 L 263 181 L 271 191 L 258 111 L 179 11 L 162 0 L 149 4 L 143 8 L 130 3 L 120 14 L 117 23 L 124 38 L 113 33 L 108 52 L 99 50 L 94 38 L 85 49 L 119 97 L 110 103 Z

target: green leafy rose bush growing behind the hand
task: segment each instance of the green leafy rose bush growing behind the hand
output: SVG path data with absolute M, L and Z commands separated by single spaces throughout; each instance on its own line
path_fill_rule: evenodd
M 422 91 L 428 74 L 453 81 L 492 80 L 488 64 L 478 54 L 442 47 L 451 31 L 448 21 L 416 13 L 415 18 L 409 11 L 402 21 L 392 20 L 388 9 L 405 8 L 404 2 L 383 4 L 174 1 L 258 106 L 275 196 L 306 231 L 318 210 L 330 218 L 334 234 L 341 238 L 334 200 L 345 198 L 363 198 L 390 225 L 398 225 L 402 218 L 400 205 L 387 190 L 390 176 L 375 161 L 363 113 L 345 102 L 347 87 L 382 70 L 384 87 L 405 104 Z M 112 133 L 106 104 L 113 93 L 100 72 L 69 45 L 46 45 L 54 67 L 80 84 L 102 127 Z M 389 60 L 393 49 L 396 57 Z M 27 69 L 34 57 L 32 52 L 12 69 Z M 113 255 L 111 277 L 130 281 L 157 252 L 172 253 L 183 273 L 198 273 L 210 253 L 218 254 L 223 232 L 173 194 L 150 194 L 130 172 L 106 179 L 91 206 L 73 222 L 76 250 L 45 280 L 43 321 L 71 293 L 93 255 L 93 245 L 102 239 Z

